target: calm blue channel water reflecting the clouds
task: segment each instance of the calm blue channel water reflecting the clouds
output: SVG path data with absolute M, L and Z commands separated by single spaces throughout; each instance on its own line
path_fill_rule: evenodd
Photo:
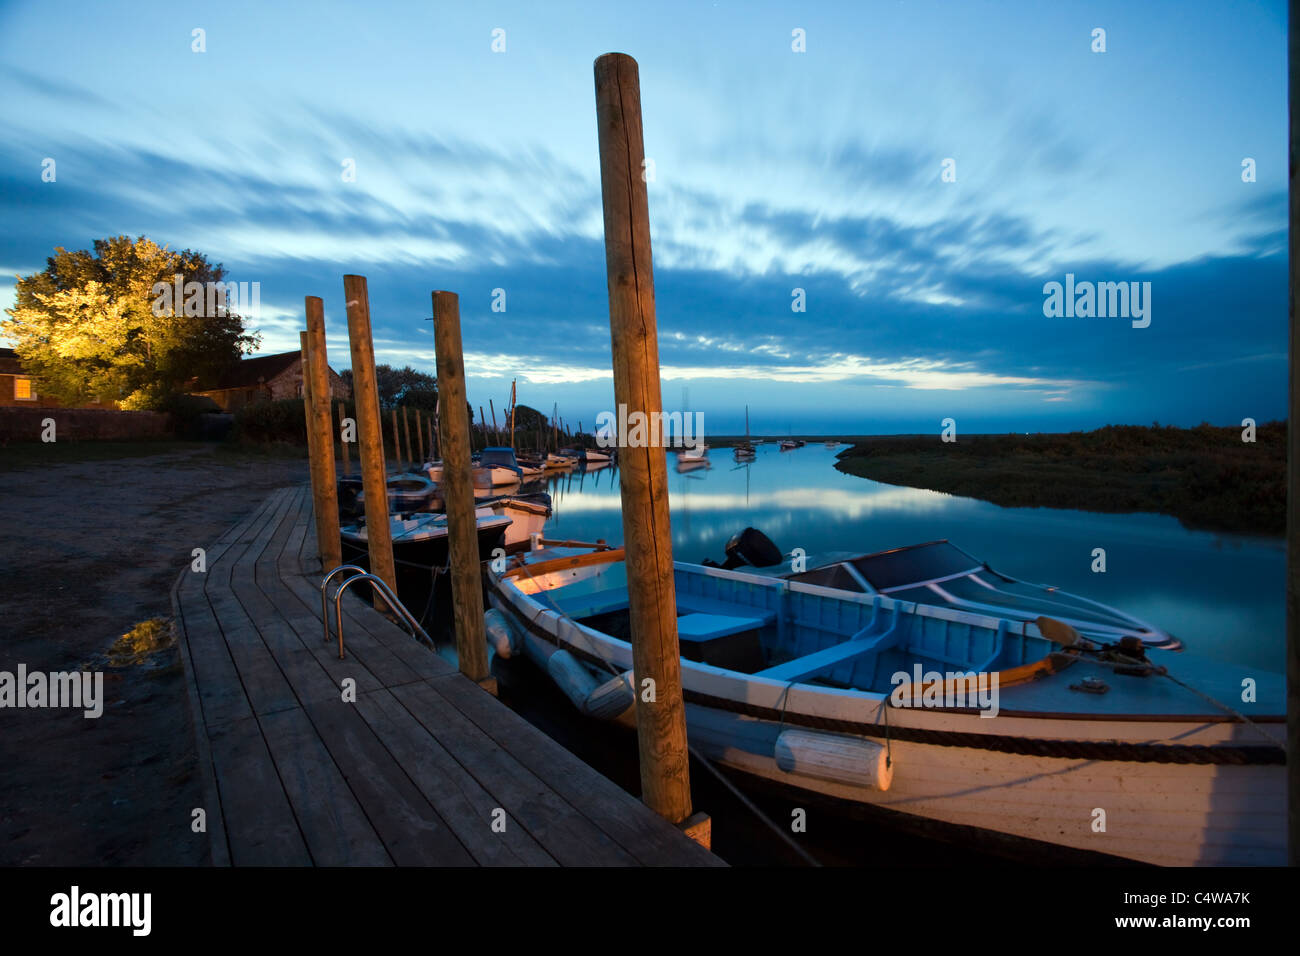
M 731 449 L 710 453 L 711 468 L 676 471 L 668 455 L 673 555 L 723 559 L 727 540 L 746 525 L 789 553 L 875 551 L 949 538 L 996 570 L 1054 584 L 1114 605 L 1165 628 L 1188 649 L 1280 671 L 1286 646 L 1280 538 L 1187 531 L 1164 515 L 1104 515 L 1004 509 L 915 488 L 844 475 L 844 446 L 780 451 L 758 446 L 746 467 Z M 547 536 L 623 540 L 618 471 L 551 477 Z M 1105 574 L 1092 550 L 1106 551 Z

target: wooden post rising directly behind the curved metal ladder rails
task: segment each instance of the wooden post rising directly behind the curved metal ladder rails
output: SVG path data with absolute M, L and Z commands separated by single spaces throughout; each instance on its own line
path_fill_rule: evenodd
M 389 476 L 384 466 L 384 432 L 380 424 L 380 386 L 374 377 L 374 342 L 370 338 L 370 297 L 365 276 L 343 276 L 347 303 L 347 337 L 352 349 L 352 399 L 356 406 L 356 440 L 361 449 L 361 490 L 365 496 L 365 542 L 370 574 L 398 591 L 393 564 L 393 528 L 389 524 Z

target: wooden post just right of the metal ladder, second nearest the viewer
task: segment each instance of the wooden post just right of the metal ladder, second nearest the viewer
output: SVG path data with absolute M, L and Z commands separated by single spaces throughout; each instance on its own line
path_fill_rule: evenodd
M 462 674 L 497 693 L 497 679 L 488 670 L 474 483 L 469 467 L 469 411 L 460 351 L 460 299 L 455 293 L 433 294 L 433 336 L 438 352 L 438 401 L 442 406 L 442 497 L 447 505 L 456 657 Z

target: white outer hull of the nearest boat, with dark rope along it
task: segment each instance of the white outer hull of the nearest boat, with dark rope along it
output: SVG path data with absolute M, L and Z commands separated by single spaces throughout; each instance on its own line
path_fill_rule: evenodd
M 632 669 L 627 641 L 547 609 L 507 578 L 489 575 L 489 600 L 512 627 L 599 674 Z M 1074 680 L 1122 679 L 1084 663 L 1070 672 Z M 692 745 L 723 766 L 788 787 L 1148 864 L 1286 860 L 1280 753 L 1227 718 L 1009 710 L 987 719 L 972 710 L 885 706 L 883 695 L 688 659 L 681 679 Z M 1280 727 L 1265 726 L 1274 734 Z M 792 727 L 887 747 L 888 788 L 783 769 L 777 737 Z

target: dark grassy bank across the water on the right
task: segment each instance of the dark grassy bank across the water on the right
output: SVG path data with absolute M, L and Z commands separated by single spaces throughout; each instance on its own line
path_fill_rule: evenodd
M 1188 528 L 1286 533 L 1286 423 L 1240 428 L 1108 425 L 1065 434 L 884 436 L 858 441 L 836 467 L 892 485 L 1006 507 L 1154 511 Z

